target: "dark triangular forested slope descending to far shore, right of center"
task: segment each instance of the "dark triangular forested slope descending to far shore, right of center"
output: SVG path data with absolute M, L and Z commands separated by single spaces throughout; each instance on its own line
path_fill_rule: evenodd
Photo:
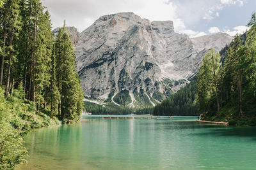
M 198 115 L 196 108 L 196 77 L 180 89 L 177 93 L 172 94 L 161 104 L 157 104 L 154 108 L 154 115 Z

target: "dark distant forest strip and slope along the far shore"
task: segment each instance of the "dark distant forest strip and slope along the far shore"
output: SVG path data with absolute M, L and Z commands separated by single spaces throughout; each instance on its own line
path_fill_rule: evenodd
M 155 107 L 131 108 L 125 106 L 117 106 L 115 104 L 106 103 L 104 105 L 85 102 L 84 107 L 88 113 L 93 115 L 200 115 L 196 108 L 196 77 L 180 89 L 177 93 L 172 94 L 168 99 Z

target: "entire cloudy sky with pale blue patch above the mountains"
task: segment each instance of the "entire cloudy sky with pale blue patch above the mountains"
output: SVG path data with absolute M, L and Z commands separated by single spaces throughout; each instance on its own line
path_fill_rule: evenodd
M 43 4 L 52 15 L 52 27 L 66 20 L 83 31 L 102 15 L 132 11 L 151 21 L 173 20 L 176 32 L 191 37 L 243 33 L 256 11 L 255 0 L 45 0 Z

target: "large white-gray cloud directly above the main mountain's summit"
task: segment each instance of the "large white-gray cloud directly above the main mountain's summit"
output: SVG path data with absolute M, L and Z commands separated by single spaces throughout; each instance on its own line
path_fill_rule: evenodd
M 102 15 L 131 11 L 151 21 L 172 20 L 177 31 L 185 28 L 183 20 L 177 17 L 177 6 L 167 0 L 45 0 L 43 4 L 52 15 L 53 27 L 60 27 L 66 20 L 67 25 L 83 31 Z

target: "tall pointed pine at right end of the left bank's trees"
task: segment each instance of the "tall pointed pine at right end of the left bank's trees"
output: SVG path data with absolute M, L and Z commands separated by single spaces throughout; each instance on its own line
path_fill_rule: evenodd
M 74 48 L 67 29 L 60 29 L 55 43 L 56 78 L 61 94 L 59 116 L 78 120 L 83 110 L 83 90 L 75 69 Z

